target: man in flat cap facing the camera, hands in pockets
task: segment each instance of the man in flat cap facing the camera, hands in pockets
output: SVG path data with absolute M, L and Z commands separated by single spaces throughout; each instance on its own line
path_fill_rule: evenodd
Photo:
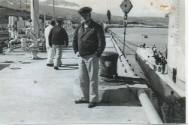
M 76 29 L 73 49 L 79 62 L 79 84 L 82 95 L 75 103 L 88 103 L 88 108 L 98 102 L 99 57 L 106 46 L 102 26 L 91 19 L 90 7 L 83 7 L 78 12 L 82 24 Z

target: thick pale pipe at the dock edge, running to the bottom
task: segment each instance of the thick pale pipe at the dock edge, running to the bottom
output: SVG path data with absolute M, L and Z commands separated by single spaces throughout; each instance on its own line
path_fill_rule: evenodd
M 143 89 L 138 90 L 138 98 L 151 124 L 163 124 L 159 114 L 153 107 L 149 97 Z

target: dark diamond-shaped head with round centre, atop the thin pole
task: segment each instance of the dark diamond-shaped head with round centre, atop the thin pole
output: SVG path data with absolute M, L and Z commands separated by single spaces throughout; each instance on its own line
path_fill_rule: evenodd
M 133 5 L 130 0 L 123 0 L 120 4 L 120 7 L 125 14 L 128 14 L 129 11 L 132 9 Z

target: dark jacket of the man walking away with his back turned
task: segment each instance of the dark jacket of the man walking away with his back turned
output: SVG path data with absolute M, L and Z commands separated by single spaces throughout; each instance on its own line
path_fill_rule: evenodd
M 64 28 L 60 26 L 54 26 L 50 31 L 49 45 L 66 45 L 68 46 L 68 35 Z

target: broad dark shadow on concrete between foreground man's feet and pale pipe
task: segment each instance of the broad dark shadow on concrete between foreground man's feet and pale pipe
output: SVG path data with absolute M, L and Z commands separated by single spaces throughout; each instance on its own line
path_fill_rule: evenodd
M 129 88 L 103 90 L 101 94 L 100 106 L 141 106 L 136 91 Z

